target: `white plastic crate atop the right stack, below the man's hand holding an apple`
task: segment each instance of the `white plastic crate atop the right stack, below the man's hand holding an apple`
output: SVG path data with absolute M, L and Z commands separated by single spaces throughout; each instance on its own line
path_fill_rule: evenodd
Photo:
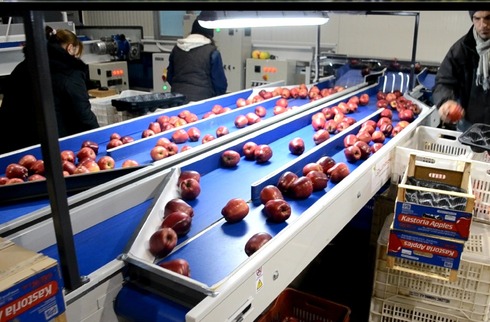
M 471 148 L 458 141 L 461 134 L 461 132 L 430 126 L 417 127 L 407 142 L 395 148 L 392 181 L 398 183 L 403 178 L 403 173 L 408 165 L 408 157 L 412 153 L 417 153 L 420 157 L 447 155 L 471 159 L 473 154 Z

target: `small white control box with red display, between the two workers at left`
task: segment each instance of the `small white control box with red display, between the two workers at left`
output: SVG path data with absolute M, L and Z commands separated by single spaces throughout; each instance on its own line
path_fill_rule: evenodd
M 118 92 L 129 89 L 128 63 L 114 61 L 89 64 L 90 80 L 100 87 L 114 88 Z

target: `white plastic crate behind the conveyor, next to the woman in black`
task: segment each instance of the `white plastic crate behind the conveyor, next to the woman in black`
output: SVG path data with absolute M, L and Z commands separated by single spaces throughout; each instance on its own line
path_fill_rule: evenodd
M 131 97 L 135 95 L 151 94 L 149 92 L 126 90 L 122 91 L 119 95 L 107 96 L 102 98 L 96 98 L 90 100 L 92 111 L 97 117 L 97 121 L 100 126 L 106 126 L 113 123 L 118 123 L 124 120 L 133 118 L 134 116 L 128 112 L 119 112 L 114 106 L 112 106 L 113 99 L 119 99 L 124 97 Z

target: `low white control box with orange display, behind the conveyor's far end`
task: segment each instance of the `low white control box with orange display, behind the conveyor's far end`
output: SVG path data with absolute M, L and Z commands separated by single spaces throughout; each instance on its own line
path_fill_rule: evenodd
M 297 72 L 295 60 L 247 59 L 248 87 L 266 85 L 283 80 L 286 85 L 305 83 L 305 75 Z

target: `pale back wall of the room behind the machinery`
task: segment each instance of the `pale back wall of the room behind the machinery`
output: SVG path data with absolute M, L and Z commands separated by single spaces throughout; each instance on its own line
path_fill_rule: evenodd
M 416 11 L 415 11 L 416 12 Z M 85 11 L 86 25 L 141 25 L 145 38 L 153 38 L 152 11 Z M 440 63 L 449 47 L 471 26 L 467 11 L 421 11 L 416 60 Z M 321 43 L 335 44 L 349 56 L 411 60 L 415 17 L 331 14 L 321 27 Z M 316 43 L 317 27 L 252 29 L 252 43 L 307 45 Z M 273 54 L 273 52 L 272 52 Z

